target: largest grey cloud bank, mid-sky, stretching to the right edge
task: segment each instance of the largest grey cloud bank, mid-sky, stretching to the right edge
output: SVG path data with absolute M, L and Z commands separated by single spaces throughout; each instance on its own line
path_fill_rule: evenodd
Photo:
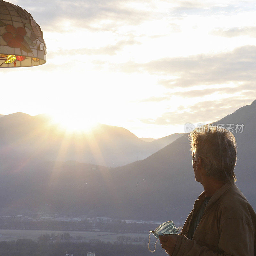
M 166 88 L 194 85 L 224 84 L 256 81 L 256 46 L 246 45 L 232 52 L 214 55 L 164 58 L 148 63 L 129 61 L 119 65 L 120 71 L 148 72 L 152 75 L 174 76 L 160 80 Z M 118 67 L 116 67 L 118 68 Z

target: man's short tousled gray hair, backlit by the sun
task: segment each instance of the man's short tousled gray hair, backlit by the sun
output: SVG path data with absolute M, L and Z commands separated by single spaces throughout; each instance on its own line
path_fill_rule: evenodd
M 236 181 L 236 139 L 224 128 L 204 125 L 190 133 L 190 145 L 195 157 L 202 159 L 208 176 L 227 182 Z

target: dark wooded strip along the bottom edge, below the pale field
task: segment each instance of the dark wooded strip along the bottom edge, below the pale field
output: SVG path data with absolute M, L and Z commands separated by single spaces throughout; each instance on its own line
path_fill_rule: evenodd
M 84 256 L 87 252 L 95 252 L 97 256 L 149 256 L 147 245 L 130 244 L 130 243 L 72 243 L 49 241 L 35 242 L 31 239 L 19 239 L 16 242 L 0 242 L 1 256 L 65 256 L 66 252 L 74 256 Z M 164 256 L 166 253 L 159 246 L 154 254 L 155 256 Z

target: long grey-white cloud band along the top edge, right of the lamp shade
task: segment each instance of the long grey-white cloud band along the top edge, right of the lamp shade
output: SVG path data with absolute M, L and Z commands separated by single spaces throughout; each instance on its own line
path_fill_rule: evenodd
M 237 3 L 218 6 L 215 1 L 206 3 L 179 0 L 149 0 L 147 4 L 142 0 L 16 0 L 15 4 L 30 12 L 46 31 L 62 31 L 65 20 L 71 21 L 70 29 L 82 27 L 91 31 L 115 31 L 120 26 L 137 26 L 147 20 L 159 20 L 163 17 L 182 19 L 184 15 L 209 16 L 241 11 L 247 6 Z M 162 5 L 164 8 L 158 8 Z M 179 30 L 174 23 L 173 28 Z

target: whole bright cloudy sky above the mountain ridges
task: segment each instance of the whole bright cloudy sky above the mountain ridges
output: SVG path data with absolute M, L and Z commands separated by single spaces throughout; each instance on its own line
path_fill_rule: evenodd
M 0 114 L 161 138 L 256 98 L 254 1 L 11 2 L 40 25 L 47 62 L 0 70 Z

